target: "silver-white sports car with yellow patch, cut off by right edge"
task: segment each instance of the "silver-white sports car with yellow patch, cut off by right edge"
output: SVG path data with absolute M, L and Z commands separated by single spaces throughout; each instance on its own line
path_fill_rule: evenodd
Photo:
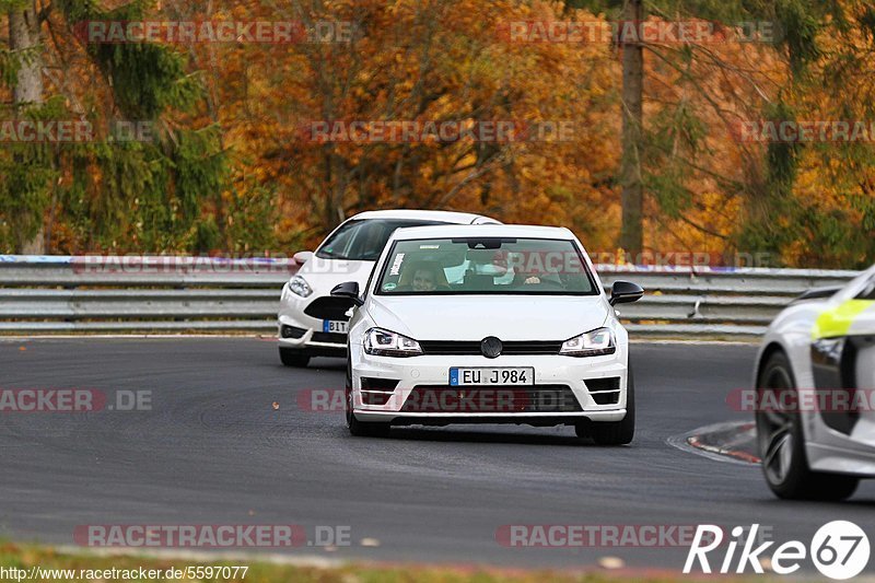
M 875 267 L 784 310 L 755 383 L 762 470 L 777 495 L 842 500 L 875 477 Z

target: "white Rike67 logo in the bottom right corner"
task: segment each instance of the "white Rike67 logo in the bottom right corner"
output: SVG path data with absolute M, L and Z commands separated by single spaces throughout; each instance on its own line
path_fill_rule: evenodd
M 773 540 L 754 547 L 761 543 L 757 537 L 758 530 L 759 524 L 750 528 L 736 526 L 723 553 L 723 529 L 710 524 L 699 525 L 684 564 L 684 573 L 690 573 L 697 562 L 702 572 L 711 573 L 709 559 L 719 560 L 720 555 L 723 555 L 723 560 L 719 565 L 715 563 L 714 569 L 719 568 L 718 572 L 723 574 L 744 573 L 748 568 L 756 573 L 763 573 L 762 559 L 768 555 L 771 555 L 771 570 L 780 575 L 795 573 L 808 558 L 822 575 L 833 580 L 856 576 L 868 564 L 868 537 L 852 522 L 833 521 L 825 524 L 807 547 L 800 540 L 789 540 L 773 550 Z M 740 551 L 736 555 L 739 547 Z M 718 548 L 721 549 L 718 551 Z M 712 551 L 716 552 L 709 557 Z

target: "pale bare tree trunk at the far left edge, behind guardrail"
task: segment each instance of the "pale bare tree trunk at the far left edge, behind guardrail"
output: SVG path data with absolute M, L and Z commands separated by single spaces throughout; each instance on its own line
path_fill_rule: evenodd
M 39 19 L 36 0 L 23 8 L 9 11 L 9 45 L 22 55 L 12 98 L 16 115 L 28 105 L 43 103 L 43 55 L 39 49 Z M 27 221 L 27 218 L 24 218 Z M 27 240 L 24 232 L 19 235 L 19 253 L 39 255 L 45 253 L 43 218 L 39 219 L 36 236 Z

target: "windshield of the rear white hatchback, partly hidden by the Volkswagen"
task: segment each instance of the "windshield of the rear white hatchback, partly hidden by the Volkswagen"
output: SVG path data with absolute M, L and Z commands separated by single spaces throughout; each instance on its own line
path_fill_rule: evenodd
M 383 247 L 396 229 L 405 226 L 424 226 L 446 224 L 440 221 L 410 219 L 370 219 L 348 221 L 335 231 L 316 250 L 316 257 L 323 259 L 352 259 L 357 261 L 376 261 Z

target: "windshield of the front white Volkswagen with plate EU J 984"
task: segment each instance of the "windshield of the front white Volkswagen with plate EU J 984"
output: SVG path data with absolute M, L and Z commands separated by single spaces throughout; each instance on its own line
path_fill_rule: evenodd
M 383 266 L 380 295 L 594 295 L 572 241 L 432 238 L 397 241 Z

